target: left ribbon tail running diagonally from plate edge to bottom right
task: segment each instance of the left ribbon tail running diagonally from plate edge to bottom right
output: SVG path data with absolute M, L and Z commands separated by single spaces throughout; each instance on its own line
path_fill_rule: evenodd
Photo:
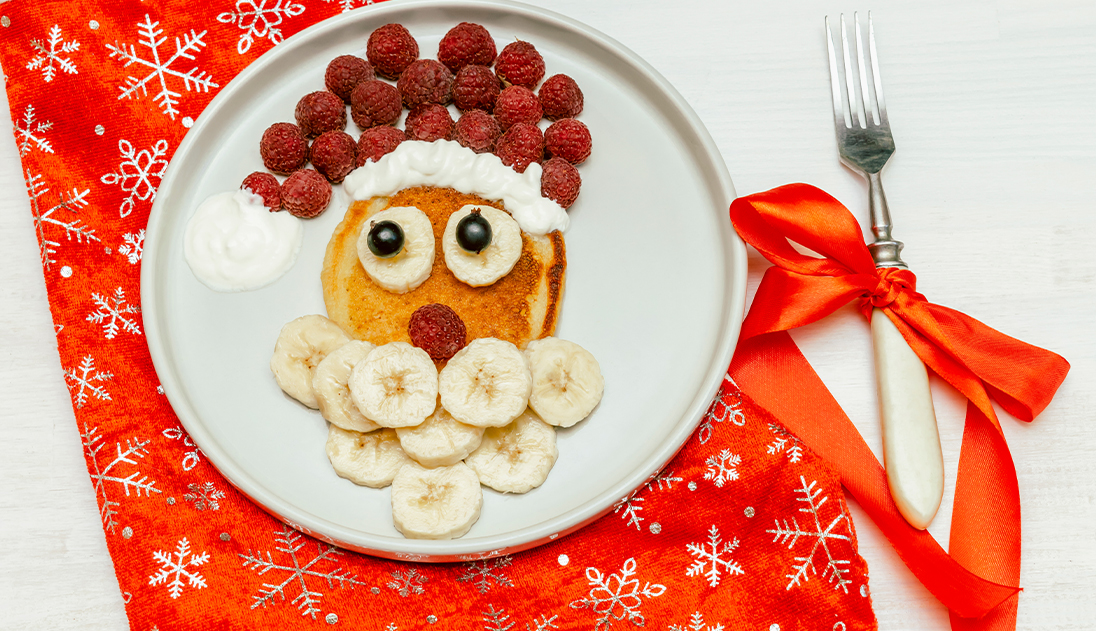
M 891 498 L 879 461 L 788 333 L 740 341 L 729 372 L 746 395 L 834 468 L 902 561 L 948 609 L 961 618 L 981 618 L 1014 599 L 1018 587 L 998 582 L 996 575 L 983 577 L 971 572 L 927 531 L 906 524 Z M 990 432 L 995 433 L 992 427 Z M 1008 462 L 1011 466 L 1011 459 Z M 1013 480 L 1015 485 L 1015 477 Z M 981 569 L 979 564 L 971 566 Z

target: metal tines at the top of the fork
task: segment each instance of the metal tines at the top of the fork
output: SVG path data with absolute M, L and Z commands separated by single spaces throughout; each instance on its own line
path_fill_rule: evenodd
M 870 67 L 864 61 L 865 39 L 860 31 L 860 21 L 853 13 L 855 30 L 855 56 L 848 44 L 848 28 L 845 15 L 841 15 L 841 53 L 842 64 L 837 61 L 833 32 L 830 28 L 830 16 L 825 19 L 826 44 L 830 51 L 830 84 L 833 90 L 833 113 L 837 127 L 887 127 L 887 103 L 883 101 L 883 87 L 879 80 L 879 60 L 876 57 L 876 32 L 871 25 L 871 12 L 868 12 L 867 49 Z M 855 57 L 855 58 L 854 58 Z M 854 66 L 855 61 L 855 66 Z M 870 79 L 868 74 L 870 73 Z M 858 79 L 858 81 L 857 81 Z M 843 125 L 842 125 L 843 124 Z

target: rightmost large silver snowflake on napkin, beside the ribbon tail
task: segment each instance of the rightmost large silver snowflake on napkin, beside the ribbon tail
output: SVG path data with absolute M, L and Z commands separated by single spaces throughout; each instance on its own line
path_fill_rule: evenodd
M 777 519 L 776 528 L 773 530 L 766 530 L 773 535 L 773 542 L 779 542 L 780 544 L 787 543 L 788 550 L 795 548 L 796 543 L 800 538 L 804 538 L 811 541 L 811 549 L 806 557 L 796 557 L 795 563 L 792 563 L 791 569 L 795 571 L 792 574 L 786 574 L 785 576 L 789 578 L 787 587 L 785 589 L 791 589 L 792 587 L 806 583 L 810 580 L 810 574 L 818 574 L 818 570 L 814 566 L 814 557 L 818 554 L 819 549 L 825 553 L 825 567 L 822 570 L 822 576 L 824 576 L 831 584 L 833 584 L 834 589 L 838 587 L 848 594 L 848 586 L 853 583 L 846 574 L 848 574 L 849 561 L 847 559 L 841 559 L 836 555 L 835 551 L 831 548 L 832 544 L 836 544 L 840 541 L 845 541 L 846 543 L 852 543 L 852 538 L 848 535 L 841 535 L 835 532 L 838 526 L 844 525 L 847 531 L 848 529 L 848 515 L 845 514 L 844 508 L 841 508 L 837 516 L 834 517 L 829 525 L 822 526 L 823 518 L 821 515 L 821 509 L 825 505 L 827 496 L 822 496 L 822 489 L 817 487 L 818 481 L 811 481 L 810 484 L 807 483 L 807 479 L 802 475 L 799 477 L 800 486 L 796 490 L 796 494 L 800 495 L 797 501 L 802 502 L 807 506 L 801 506 L 799 508 L 800 513 L 806 513 L 810 515 L 810 520 L 813 521 L 813 526 L 808 525 L 804 530 L 803 527 L 799 525 L 799 521 L 792 517 L 791 525 L 788 525 L 788 520 Z

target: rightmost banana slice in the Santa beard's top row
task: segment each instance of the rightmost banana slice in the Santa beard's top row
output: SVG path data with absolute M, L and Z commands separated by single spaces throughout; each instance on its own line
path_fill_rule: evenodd
M 534 340 L 525 346 L 533 374 L 529 408 L 550 425 L 570 427 L 593 412 L 605 392 L 597 359 L 574 342 Z

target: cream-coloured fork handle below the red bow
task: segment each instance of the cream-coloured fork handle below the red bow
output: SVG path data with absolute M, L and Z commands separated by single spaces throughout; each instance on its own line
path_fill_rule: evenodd
M 871 312 L 871 342 L 887 481 L 899 513 L 911 526 L 924 530 L 944 497 L 944 456 L 928 372 L 902 333 L 879 309 Z

